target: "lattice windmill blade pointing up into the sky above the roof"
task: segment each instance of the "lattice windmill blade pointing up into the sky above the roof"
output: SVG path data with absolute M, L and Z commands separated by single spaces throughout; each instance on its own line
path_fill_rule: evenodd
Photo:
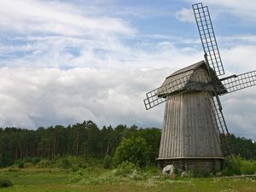
M 201 44 L 207 55 L 207 61 L 215 73 L 219 75 L 224 74 L 224 67 L 219 55 L 218 44 L 212 28 L 212 20 L 207 6 L 202 3 L 195 3 L 192 5 L 194 10 L 195 20 L 201 38 Z

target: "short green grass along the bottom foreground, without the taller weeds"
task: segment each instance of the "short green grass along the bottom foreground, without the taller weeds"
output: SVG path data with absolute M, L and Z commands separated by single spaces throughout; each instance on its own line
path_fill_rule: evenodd
M 82 170 L 81 172 L 87 172 Z M 91 177 L 101 177 L 102 170 Z M 14 184 L 13 187 L 0 189 L 1 192 L 156 192 L 156 191 L 173 191 L 173 192 L 256 192 L 256 177 L 243 178 L 169 178 L 169 177 L 148 177 L 147 179 L 117 179 L 116 182 L 101 183 L 70 183 L 69 177 L 73 175 L 71 170 L 61 169 L 0 169 L 0 177 L 9 178 Z M 90 174 L 89 174 L 90 175 Z

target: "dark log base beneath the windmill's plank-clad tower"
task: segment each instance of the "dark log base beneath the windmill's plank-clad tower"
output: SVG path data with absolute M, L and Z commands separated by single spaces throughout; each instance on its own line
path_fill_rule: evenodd
M 197 173 L 217 173 L 223 168 L 222 158 L 179 158 L 179 159 L 157 159 L 159 166 L 163 169 L 167 165 L 173 165 L 178 172 L 193 171 Z

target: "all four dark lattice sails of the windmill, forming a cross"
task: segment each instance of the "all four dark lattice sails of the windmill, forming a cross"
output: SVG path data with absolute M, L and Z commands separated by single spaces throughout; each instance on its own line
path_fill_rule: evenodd
M 205 56 L 207 57 L 206 61 L 208 62 L 208 70 L 210 70 L 209 68 L 212 67 L 217 76 L 224 75 L 224 67 L 221 61 L 221 57 L 219 55 L 218 44 L 212 28 L 212 20 L 209 14 L 209 10 L 207 6 L 203 6 L 202 3 L 193 4 L 192 7 L 195 14 L 196 24 L 200 33 L 201 43 L 205 52 Z M 190 82 L 189 89 L 184 89 L 184 84 L 188 82 L 191 76 L 190 72 L 186 73 L 188 74 L 184 77 L 175 79 L 171 82 L 168 82 L 167 84 L 163 84 L 162 86 L 160 86 L 160 88 L 149 91 L 146 94 L 147 98 L 144 99 L 146 109 L 148 110 L 149 108 L 154 108 L 160 103 L 166 102 L 167 99 L 172 99 L 174 96 L 178 96 L 187 91 L 191 91 L 193 89 L 207 89 L 208 85 L 211 86 L 211 84 L 214 84 L 215 90 L 213 90 L 212 92 L 215 92 L 215 96 L 213 96 L 213 101 L 209 102 L 211 102 L 211 110 L 214 114 L 213 118 L 215 118 L 214 122 L 216 122 L 216 126 L 218 127 L 216 137 L 219 136 L 218 141 L 222 148 L 224 156 L 232 154 L 229 144 L 230 133 L 224 120 L 222 107 L 220 102 L 218 101 L 218 93 L 216 92 L 216 90 L 218 89 L 219 95 L 224 95 L 230 92 L 234 92 L 236 90 L 241 90 L 256 85 L 256 71 L 241 73 L 239 75 L 233 75 L 224 79 L 218 79 L 217 81 L 221 82 L 222 86 L 218 86 L 220 84 L 218 84 L 218 82 L 216 81 L 208 83 L 203 82 L 203 84 L 198 84 L 198 82 Z M 198 80 L 200 79 L 201 77 L 199 75 Z M 223 89 L 222 93 L 221 89 Z M 172 94 L 168 94 L 168 92 L 171 92 Z M 206 98 L 209 99 L 208 96 L 206 96 Z

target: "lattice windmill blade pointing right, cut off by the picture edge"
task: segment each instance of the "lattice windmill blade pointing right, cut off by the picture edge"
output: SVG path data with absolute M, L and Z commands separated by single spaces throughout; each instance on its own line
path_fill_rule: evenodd
M 256 85 L 256 71 L 241 73 L 233 78 L 224 79 L 222 83 L 225 89 L 228 90 L 227 93 L 254 86 Z

